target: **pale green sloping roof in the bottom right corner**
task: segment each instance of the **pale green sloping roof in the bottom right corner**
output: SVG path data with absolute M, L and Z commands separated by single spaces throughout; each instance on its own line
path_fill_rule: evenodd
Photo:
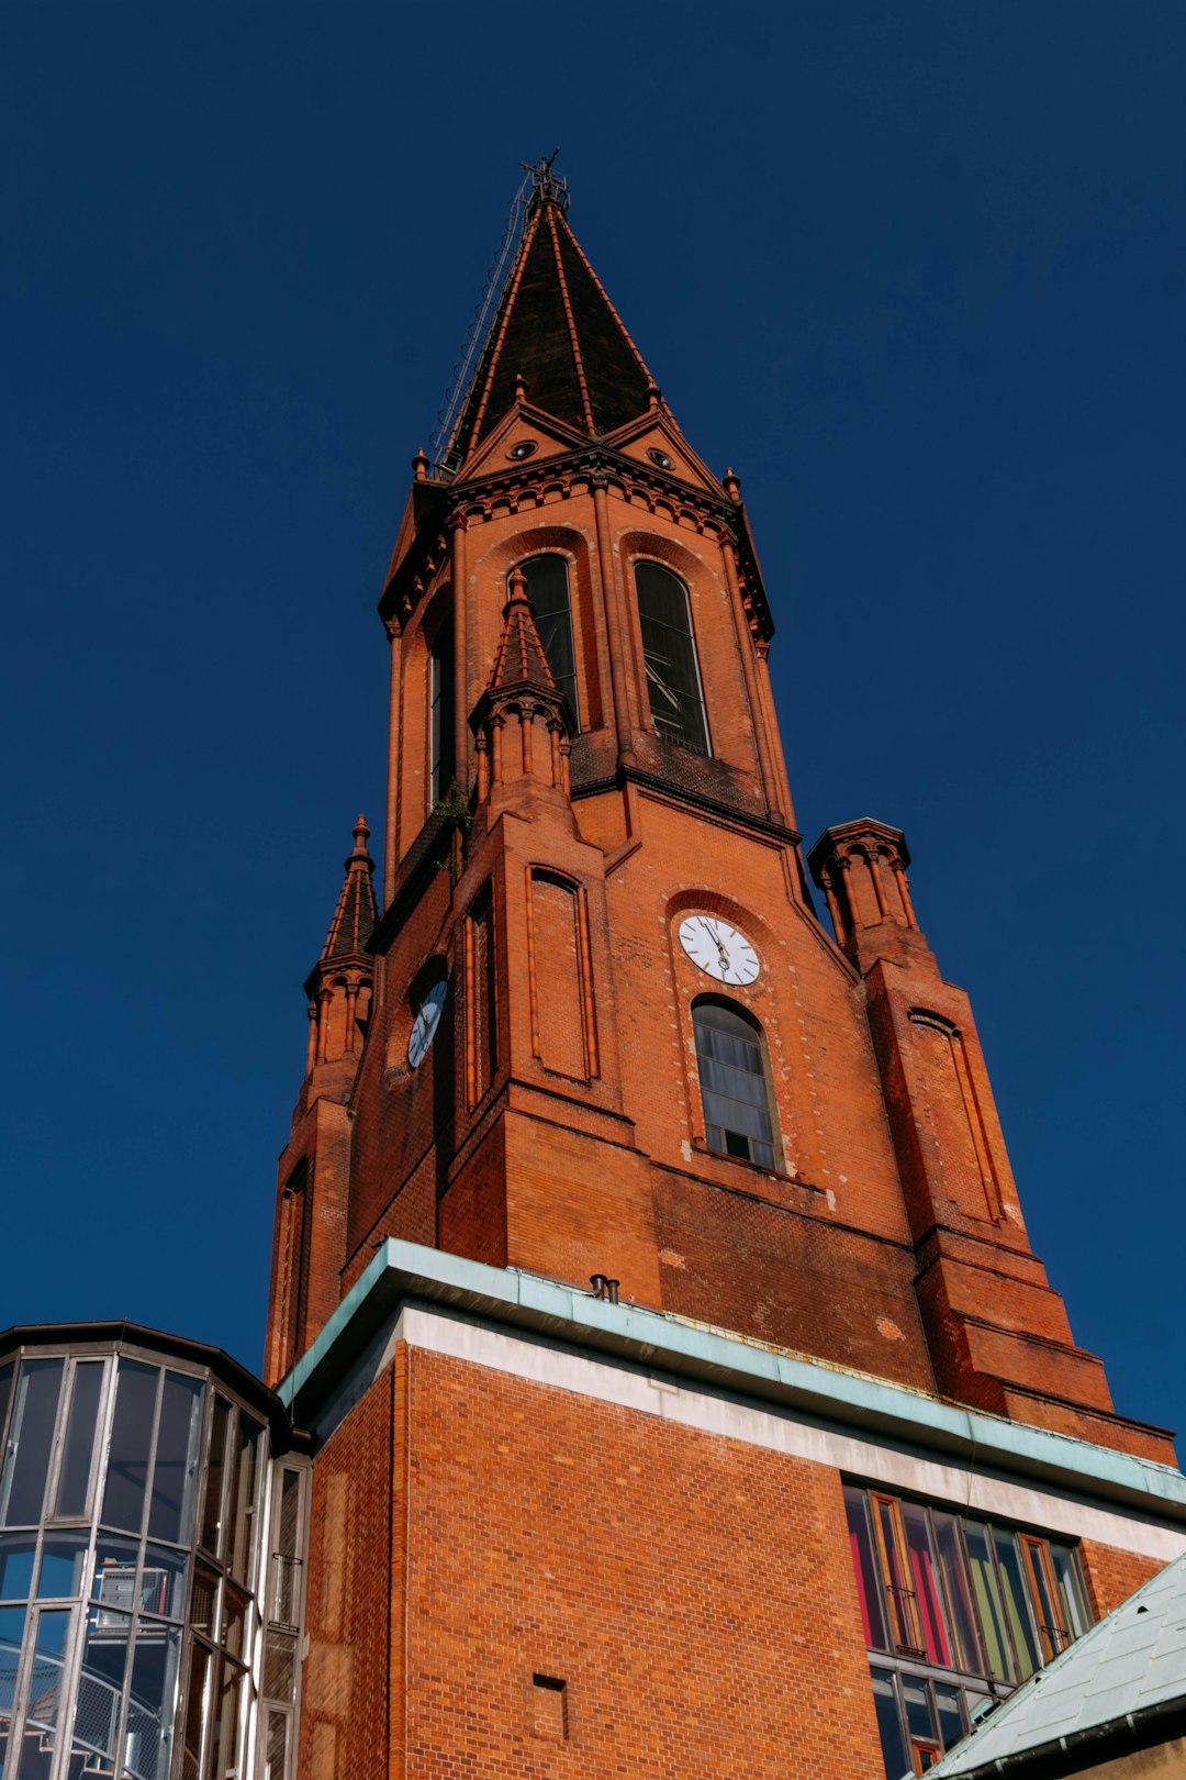
M 1184 1703 L 1186 1554 L 1031 1675 L 928 1773 L 935 1780 L 999 1773 L 1001 1762 L 1006 1773 L 1024 1773 L 1028 1760 L 1070 1755 L 1111 1727 L 1136 1732 L 1133 1719 Z

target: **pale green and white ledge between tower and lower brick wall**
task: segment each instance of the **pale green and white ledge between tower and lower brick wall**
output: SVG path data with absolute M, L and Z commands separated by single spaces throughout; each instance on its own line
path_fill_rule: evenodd
M 645 1372 L 781 1404 L 830 1426 L 942 1452 L 978 1470 L 1047 1479 L 1086 1497 L 1186 1522 L 1186 1477 L 1170 1465 L 1070 1435 L 962 1408 L 745 1335 L 638 1305 L 612 1305 L 516 1267 L 388 1237 L 313 1346 L 277 1387 L 299 1426 L 311 1426 L 372 1339 L 404 1305 L 510 1326 L 571 1349 L 610 1355 Z

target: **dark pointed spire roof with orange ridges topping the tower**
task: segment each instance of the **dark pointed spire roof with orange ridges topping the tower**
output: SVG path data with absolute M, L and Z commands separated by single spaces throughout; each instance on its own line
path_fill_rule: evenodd
M 535 192 L 448 457 L 461 461 L 516 400 L 526 399 L 590 438 L 645 413 L 654 388 L 548 183 Z

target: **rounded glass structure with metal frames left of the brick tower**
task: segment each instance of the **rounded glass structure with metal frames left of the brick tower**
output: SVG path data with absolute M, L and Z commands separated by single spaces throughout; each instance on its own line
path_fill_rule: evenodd
M 288 1780 L 308 1460 L 224 1353 L 0 1335 L 2 1780 Z

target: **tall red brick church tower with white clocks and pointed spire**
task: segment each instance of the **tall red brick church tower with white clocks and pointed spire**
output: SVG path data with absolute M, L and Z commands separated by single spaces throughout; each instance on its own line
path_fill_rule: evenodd
M 804 860 L 738 477 L 549 164 L 491 308 L 279 1169 L 301 1769 L 923 1771 L 1186 1495 L 1030 1250 L 905 837 Z

